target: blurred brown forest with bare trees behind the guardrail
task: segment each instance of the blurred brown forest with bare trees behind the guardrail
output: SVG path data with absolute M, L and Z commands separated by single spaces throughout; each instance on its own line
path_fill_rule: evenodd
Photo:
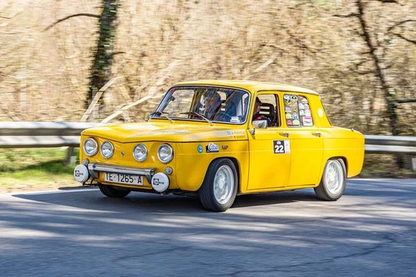
M 0 120 L 137 122 L 198 79 L 306 87 L 333 125 L 415 136 L 416 1 L 0 0 Z

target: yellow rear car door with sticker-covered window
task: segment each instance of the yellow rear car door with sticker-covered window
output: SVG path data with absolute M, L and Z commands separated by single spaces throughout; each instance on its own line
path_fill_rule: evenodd
M 309 96 L 283 93 L 284 127 L 281 132 L 291 143 L 291 168 L 288 186 L 318 184 L 323 157 L 323 139 L 313 120 Z

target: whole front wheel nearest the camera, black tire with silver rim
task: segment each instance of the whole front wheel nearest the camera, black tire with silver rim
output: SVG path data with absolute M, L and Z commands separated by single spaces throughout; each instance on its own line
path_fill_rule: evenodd
M 238 176 L 236 166 L 229 159 L 213 161 L 199 190 L 202 206 L 208 211 L 227 211 L 234 203 Z

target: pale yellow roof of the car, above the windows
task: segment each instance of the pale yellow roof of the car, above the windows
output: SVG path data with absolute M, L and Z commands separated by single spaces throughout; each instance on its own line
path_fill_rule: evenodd
M 246 89 L 251 93 L 254 93 L 256 91 L 290 91 L 319 95 L 317 92 L 312 91 L 311 89 L 295 87 L 289 84 L 279 84 L 273 82 L 254 82 L 247 80 L 196 80 L 189 82 L 180 82 L 178 84 L 175 84 L 175 86 L 192 84 L 206 84 L 220 87 L 235 87 L 239 89 Z

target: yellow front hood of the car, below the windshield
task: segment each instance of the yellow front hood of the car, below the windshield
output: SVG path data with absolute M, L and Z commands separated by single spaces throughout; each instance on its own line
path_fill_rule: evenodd
M 85 129 L 83 136 L 98 136 L 121 143 L 139 141 L 191 142 L 247 140 L 246 129 L 208 123 L 124 123 Z M 243 127 L 243 126 L 241 126 Z

